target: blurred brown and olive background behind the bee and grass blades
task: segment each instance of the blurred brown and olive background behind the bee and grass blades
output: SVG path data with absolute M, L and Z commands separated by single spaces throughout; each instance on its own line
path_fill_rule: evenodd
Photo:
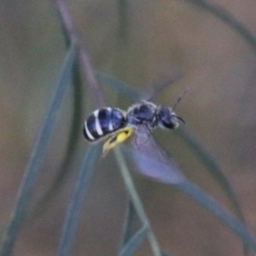
M 256 232 L 256 48 L 196 1 L 129 1 L 122 27 L 117 1 L 67 1 L 94 67 L 134 88 L 154 89 L 179 79 L 154 96 L 177 108 L 187 127 L 215 155 L 236 190 L 248 226 Z M 253 0 L 215 0 L 256 36 Z M 0 2 L 0 224 L 8 222 L 20 178 L 66 55 L 61 25 L 50 1 Z M 85 88 L 84 84 L 84 88 Z M 87 91 L 88 92 L 88 91 Z M 131 102 L 104 90 L 110 106 Z M 49 188 L 65 152 L 72 115 L 71 96 L 62 105 L 55 137 L 44 162 L 34 202 Z M 86 100 L 87 99 L 87 100 Z M 92 106 L 84 93 L 84 105 Z M 89 103 L 88 103 L 89 102 Z M 84 110 L 86 114 L 94 110 Z M 82 129 L 81 123 L 81 129 Z M 224 207 L 230 201 L 177 133 L 156 131 L 157 141 L 173 155 L 190 180 Z M 88 143 L 81 132 L 73 168 L 44 211 L 27 221 L 14 255 L 54 255 L 77 168 Z M 175 255 L 241 255 L 242 246 L 228 228 L 176 189 L 133 173 L 155 235 Z M 84 202 L 73 255 L 114 255 L 127 195 L 113 158 L 99 159 Z M 137 255 L 151 255 L 148 244 Z

